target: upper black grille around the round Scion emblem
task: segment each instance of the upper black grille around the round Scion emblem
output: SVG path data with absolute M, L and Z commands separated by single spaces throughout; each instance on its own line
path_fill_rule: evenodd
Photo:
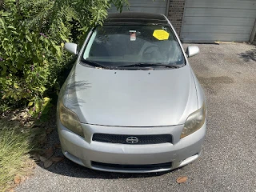
M 127 138 L 134 139 L 134 143 L 127 142 Z M 136 139 L 138 138 L 138 140 Z M 136 141 L 136 140 L 137 141 Z M 110 142 L 131 145 L 145 145 L 172 142 L 170 134 L 150 134 L 150 135 L 126 135 L 126 134 L 94 134 L 93 141 L 95 142 Z M 132 141 L 130 139 L 130 141 Z

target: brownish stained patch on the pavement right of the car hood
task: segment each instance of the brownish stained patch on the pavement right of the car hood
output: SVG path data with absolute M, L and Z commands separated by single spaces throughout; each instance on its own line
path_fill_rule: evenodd
M 203 78 L 198 77 L 198 81 L 209 92 L 209 94 L 218 94 L 218 90 L 221 90 L 223 84 L 232 84 L 234 79 L 228 76 Z

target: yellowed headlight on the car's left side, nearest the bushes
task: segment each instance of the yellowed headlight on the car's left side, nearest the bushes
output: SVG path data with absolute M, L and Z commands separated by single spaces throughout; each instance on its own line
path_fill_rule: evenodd
M 62 125 L 66 126 L 67 129 L 82 137 L 84 136 L 78 115 L 66 108 L 62 102 L 59 103 L 59 118 Z

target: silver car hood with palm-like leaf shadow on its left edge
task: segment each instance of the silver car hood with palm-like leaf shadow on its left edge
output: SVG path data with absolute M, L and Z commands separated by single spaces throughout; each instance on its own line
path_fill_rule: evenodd
M 198 110 L 190 66 L 168 70 L 103 70 L 77 64 L 64 104 L 82 123 L 172 126 Z

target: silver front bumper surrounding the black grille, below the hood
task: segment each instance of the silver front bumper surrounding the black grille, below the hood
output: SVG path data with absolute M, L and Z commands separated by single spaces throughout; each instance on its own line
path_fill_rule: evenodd
M 90 169 L 126 173 L 160 172 L 185 166 L 199 157 L 202 142 L 206 135 L 206 123 L 200 130 L 182 139 L 180 139 L 180 135 L 183 125 L 117 127 L 82 124 L 82 128 L 85 134 L 84 138 L 66 129 L 58 120 L 58 135 L 62 145 L 62 153 L 66 158 Z M 171 134 L 173 141 L 172 143 L 149 145 L 94 142 L 92 141 L 94 133 L 127 134 L 130 136 Z M 171 163 L 170 166 L 162 166 L 167 162 Z

